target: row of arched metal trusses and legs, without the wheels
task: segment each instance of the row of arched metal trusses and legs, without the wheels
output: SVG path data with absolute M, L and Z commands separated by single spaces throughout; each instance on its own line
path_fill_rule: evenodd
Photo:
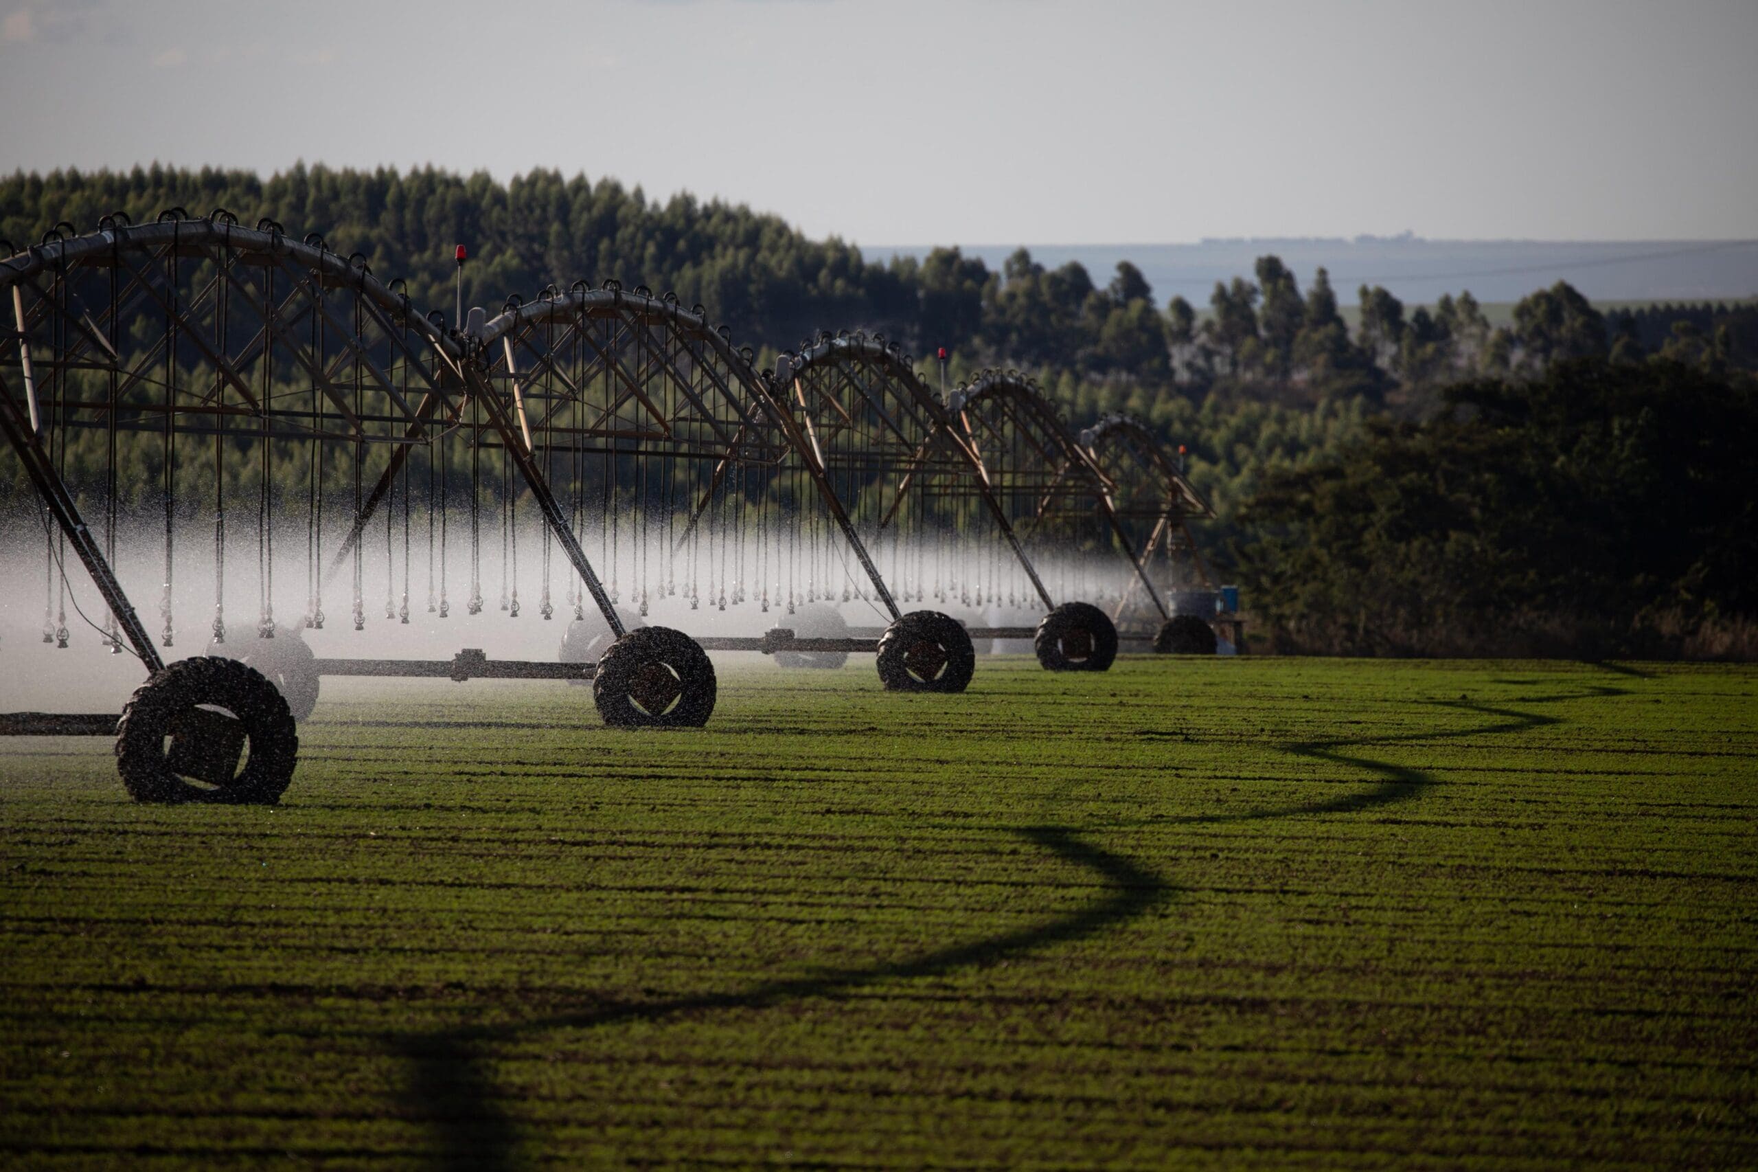
M 223 211 L 176 209 L 141 225 L 105 216 L 84 236 L 58 225 L 0 262 L 12 310 L 12 329 L 0 331 L 0 424 L 91 570 L 116 637 L 149 670 L 160 653 L 113 572 L 114 484 L 104 533 L 93 535 L 58 472 L 56 436 L 63 454 L 69 435 L 107 436 L 111 475 L 118 433 L 162 436 L 167 531 L 172 438 L 213 438 L 216 491 L 229 443 L 258 447 L 264 482 L 272 442 L 352 449 L 355 507 L 336 572 L 411 454 L 457 435 L 517 468 L 617 635 L 624 625 L 580 546 L 578 514 L 552 489 L 557 463 L 575 475 L 589 456 L 612 468 L 624 458 L 689 466 L 687 479 L 668 480 L 691 489 L 684 535 L 735 473 L 798 470 L 893 619 L 902 611 L 863 531 L 883 538 L 988 516 L 1048 611 L 1055 602 L 1025 538 L 1097 516 L 1164 614 L 1144 560 L 1167 524 L 1188 538 L 1181 519 L 1201 516 L 1166 503 L 1201 498 L 1139 424 L 1106 421 L 1076 442 L 1013 373 L 986 373 L 946 403 L 881 336 L 821 334 L 763 373 L 701 306 L 684 310 L 670 294 L 615 282 L 550 287 L 459 333 L 420 315 L 399 285 L 380 282 L 362 253 L 341 257 L 318 236 L 295 241 L 267 220 L 243 227 Z M 376 452 L 383 463 L 366 491 Z M 1125 523 L 1143 516 L 1144 498 L 1125 484 L 1143 468 L 1166 491 L 1148 537 L 1129 540 Z M 223 524 L 223 500 L 216 510 Z M 167 646 L 169 574 L 167 558 Z

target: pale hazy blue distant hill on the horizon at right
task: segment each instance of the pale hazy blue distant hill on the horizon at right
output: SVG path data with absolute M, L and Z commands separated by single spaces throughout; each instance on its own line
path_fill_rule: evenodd
M 1018 245 L 965 245 L 1000 269 Z M 1357 236 L 1355 239 L 1257 238 L 1204 239 L 1197 245 L 1027 245 L 1046 267 L 1069 260 L 1095 280 L 1130 260 L 1153 287 L 1157 304 L 1178 294 L 1192 304 L 1208 301 L 1215 282 L 1252 273 L 1257 257 L 1273 253 L 1310 283 L 1318 267 L 1343 303 L 1361 285 L 1384 285 L 1412 304 L 1470 289 L 1480 303 L 1519 301 L 1535 289 L 1568 282 L 1593 301 L 1705 301 L 1758 294 L 1758 241 L 1533 241 L 1420 239 Z M 863 246 L 867 260 L 928 255 L 926 246 Z

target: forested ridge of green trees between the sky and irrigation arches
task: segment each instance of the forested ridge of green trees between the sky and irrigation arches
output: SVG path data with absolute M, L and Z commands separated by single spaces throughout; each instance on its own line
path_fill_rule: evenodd
M 918 354 L 948 347 L 963 366 L 1004 363 L 1050 377 L 1137 384 L 1201 399 L 1225 394 L 1310 403 L 1366 396 L 1424 410 L 1433 389 L 1478 375 L 1531 373 L 1566 357 L 1640 361 L 1665 354 L 1705 366 L 1758 366 L 1758 306 L 1595 310 L 1566 283 L 1521 301 L 1491 326 L 1470 292 L 1405 306 L 1382 287 L 1355 290 L 1355 326 L 1318 269 L 1304 290 L 1278 257 L 1250 278 L 1217 283 L 1199 308 L 1155 304 L 1123 260 L 1101 285 L 1078 262 L 1046 267 L 1025 248 L 992 271 L 958 248 L 919 260 L 868 260 L 853 245 L 809 239 L 774 215 L 687 194 L 650 201 L 615 179 L 531 171 L 499 183 L 432 167 L 352 171 L 304 164 L 269 178 L 248 171 L 14 172 L 0 179 L 0 238 L 23 246 L 56 222 L 90 231 L 100 215 L 135 222 L 179 206 L 271 218 L 362 252 L 380 276 L 403 276 L 417 304 L 450 306 L 452 250 L 466 245 L 469 304 L 498 308 L 545 285 L 617 278 L 675 292 L 766 350 L 819 329 L 868 329 Z

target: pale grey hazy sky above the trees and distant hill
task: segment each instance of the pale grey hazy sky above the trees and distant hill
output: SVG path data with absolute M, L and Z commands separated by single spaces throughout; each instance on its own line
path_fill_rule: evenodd
M 0 0 L 0 169 L 615 176 L 861 245 L 1758 238 L 1758 0 Z

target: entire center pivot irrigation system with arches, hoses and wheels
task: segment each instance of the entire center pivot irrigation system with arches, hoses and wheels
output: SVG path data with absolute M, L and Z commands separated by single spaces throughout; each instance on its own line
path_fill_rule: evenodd
M 69 644 L 72 602 L 148 672 L 120 722 L 16 713 L 0 730 L 114 732 L 139 801 L 276 801 L 325 674 L 591 683 L 610 725 L 691 727 L 714 711 L 707 651 L 803 665 L 870 653 L 890 690 L 962 692 L 972 637 L 1032 639 L 1046 669 L 1104 670 L 1115 619 L 1146 614 L 1159 630 L 1137 637 L 1164 644 L 1178 621 L 1166 588 L 1192 581 L 1192 567 L 1208 584 L 1183 524 L 1208 507 L 1146 429 L 1108 419 L 1076 436 L 1016 373 L 935 392 L 881 336 L 821 334 L 761 371 L 701 306 L 617 282 L 548 287 L 448 327 L 362 253 L 225 211 L 139 225 L 111 215 L 91 234 L 62 223 L 25 252 L 0 241 L 0 255 L 12 317 L 0 428 L 42 502 L 44 639 Z M 100 484 L 76 484 L 95 468 Z M 142 470 L 156 507 L 125 502 L 125 473 Z M 195 510 L 192 486 L 204 494 Z M 102 509 L 97 528 L 81 496 Z M 536 607 L 568 621 L 559 662 L 308 649 L 301 630 L 338 621 L 325 595 L 345 593 L 339 621 L 366 626 L 369 581 L 385 584 L 385 621 L 410 623 L 417 535 L 434 618 L 459 605 L 459 574 L 468 614 L 492 605 L 482 553 L 496 535 L 510 553 L 498 605 L 517 618 L 529 605 L 520 509 L 541 523 Z M 142 531 L 162 542 L 156 642 L 114 570 L 125 528 L 134 544 Z M 380 535 L 381 575 L 366 568 Z M 207 655 L 167 665 L 160 648 L 188 637 L 174 623 L 174 553 L 209 540 L 214 605 L 197 635 Z M 288 558 L 276 544 L 288 540 L 302 540 L 294 623 L 274 609 Z M 227 553 L 237 579 L 241 544 L 255 553 L 248 623 L 225 609 Z M 69 590 L 69 549 L 102 597 L 100 619 Z M 1113 567 L 1113 614 L 1072 597 L 1106 593 L 1093 554 Z M 851 600 L 883 626 L 847 628 L 835 605 Z M 955 602 L 1041 618 L 967 628 L 928 609 Z M 775 618 L 759 637 L 693 639 L 642 625 L 661 604 Z

